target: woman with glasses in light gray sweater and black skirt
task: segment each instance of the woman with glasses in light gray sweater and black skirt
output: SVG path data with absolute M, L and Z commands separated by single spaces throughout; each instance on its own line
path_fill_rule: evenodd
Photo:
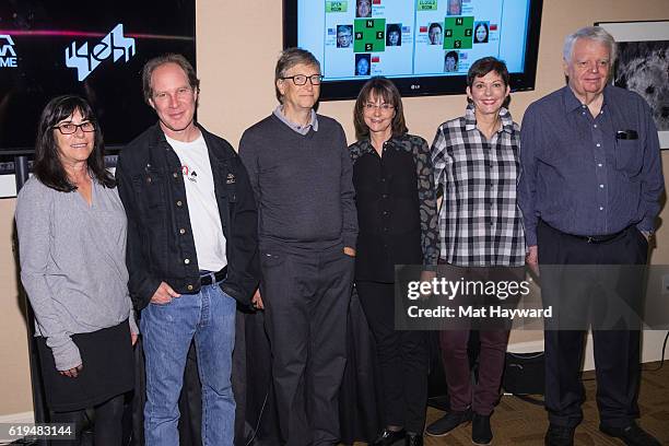
M 95 445 L 118 446 L 138 328 L 127 287 L 126 213 L 83 98 L 59 96 L 45 107 L 34 174 L 19 193 L 16 228 L 51 422 L 73 423 L 77 439 L 62 444 L 79 445 L 93 409 Z

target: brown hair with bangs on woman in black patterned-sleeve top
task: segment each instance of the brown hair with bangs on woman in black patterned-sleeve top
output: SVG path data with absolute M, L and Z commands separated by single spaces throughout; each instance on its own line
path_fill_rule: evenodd
M 399 137 L 406 134 L 409 129 L 404 120 L 404 108 L 402 107 L 402 96 L 397 90 L 397 86 L 384 77 L 374 77 L 369 79 L 357 94 L 355 108 L 353 109 L 353 125 L 355 126 L 355 138 L 360 141 L 369 138 L 369 128 L 365 124 L 365 104 L 372 98 L 380 98 L 386 104 L 391 104 L 395 107 L 395 117 L 392 118 L 392 136 Z

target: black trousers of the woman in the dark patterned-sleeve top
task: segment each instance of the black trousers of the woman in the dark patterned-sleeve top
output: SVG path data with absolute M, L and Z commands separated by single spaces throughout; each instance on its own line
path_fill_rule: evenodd
M 427 339 L 424 331 L 395 330 L 395 284 L 355 283 L 376 342 L 384 423 L 423 432 L 427 403 Z

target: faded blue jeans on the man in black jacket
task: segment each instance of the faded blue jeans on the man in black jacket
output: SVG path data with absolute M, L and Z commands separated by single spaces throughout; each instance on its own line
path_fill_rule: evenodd
M 178 446 L 178 399 L 186 355 L 195 337 L 202 383 L 202 445 L 234 441 L 235 399 L 231 384 L 235 300 L 218 284 L 171 303 L 149 304 L 141 331 L 146 359 L 146 446 Z

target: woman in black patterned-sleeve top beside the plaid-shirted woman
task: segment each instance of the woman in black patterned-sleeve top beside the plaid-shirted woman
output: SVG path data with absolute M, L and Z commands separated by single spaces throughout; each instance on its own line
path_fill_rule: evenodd
M 374 334 L 384 430 L 374 445 L 404 438 L 423 444 L 427 347 L 422 331 L 396 331 L 395 266 L 434 266 L 437 211 L 430 148 L 408 133 L 392 82 L 372 78 L 353 114 L 357 141 L 349 149 L 356 193 L 355 287 Z

